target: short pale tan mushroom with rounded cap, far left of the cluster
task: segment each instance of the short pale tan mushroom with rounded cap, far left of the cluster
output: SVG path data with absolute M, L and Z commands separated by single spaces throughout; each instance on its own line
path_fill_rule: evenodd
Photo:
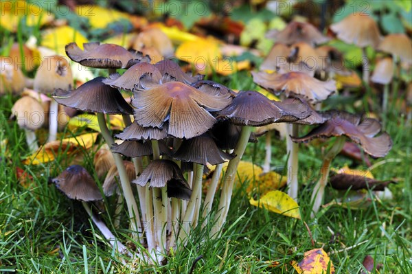
M 45 119 L 45 113 L 41 104 L 34 98 L 24 96 L 17 100 L 12 106 L 12 115 L 20 128 L 25 131 L 25 137 L 29 150 L 38 150 L 36 133 L 34 130 L 41 128 Z

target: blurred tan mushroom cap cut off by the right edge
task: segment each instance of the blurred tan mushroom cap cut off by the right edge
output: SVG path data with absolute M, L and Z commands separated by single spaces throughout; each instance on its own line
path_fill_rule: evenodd
M 399 56 L 402 62 L 412 63 L 412 41 L 406 34 L 389 34 L 385 36 L 378 46 L 382 52 Z

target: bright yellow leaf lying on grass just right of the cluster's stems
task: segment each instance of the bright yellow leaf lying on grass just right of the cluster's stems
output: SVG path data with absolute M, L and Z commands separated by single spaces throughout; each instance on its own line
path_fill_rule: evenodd
M 255 201 L 253 198 L 249 200 L 249 203 L 254 206 L 265 207 L 271 212 L 289 216 L 292 218 L 300 219 L 299 205 L 288 196 L 288 194 L 279 190 L 270 191 Z

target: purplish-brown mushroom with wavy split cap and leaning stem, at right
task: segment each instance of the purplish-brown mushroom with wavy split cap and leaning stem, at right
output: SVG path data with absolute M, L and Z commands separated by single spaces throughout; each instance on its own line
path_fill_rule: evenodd
M 359 144 L 371 157 L 385 157 L 392 147 L 391 137 L 387 133 L 380 133 L 380 123 L 376 119 L 364 118 L 350 113 L 330 111 L 323 113 L 325 123 L 314 128 L 304 137 L 292 137 L 295 142 L 306 142 L 316 138 L 336 137 L 336 141 L 323 157 L 320 178 L 312 192 L 312 217 L 318 212 L 325 185 L 328 182 L 330 164 L 334 157 L 342 150 L 345 137 Z M 376 137 L 376 135 L 378 135 Z

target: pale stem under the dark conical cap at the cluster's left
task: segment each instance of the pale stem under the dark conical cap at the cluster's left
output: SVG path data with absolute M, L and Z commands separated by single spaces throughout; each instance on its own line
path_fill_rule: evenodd
M 104 118 L 104 113 L 97 113 L 98 115 L 98 122 L 99 127 L 102 132 L 102 136 L 109 147 L 113 146 L 115 141 L 113 141 L 113 137 L 111 137 L 110 132 L 108 131 L 106 125 L 106 119 Z M 128 214 L 130 218 L 130 228 L 132 231 L 137 231 L 136 234 L 133 232 L 133 236 L 137 236 L 135 238 L 139 238 L 141 236 L 140 231 L 140 216 L 139 216 L 139 209 L 137 208 L 137 203 L 135 200 L 135 196 L 133 195 L 133 190 L 130 185 L 130 181 L 128 179 L 126 168 L 124 167 L 123 159 L 117 153 L 112 153 L 113 158 L 115 159 L 117 171 L 119 172 L 120 183 L 122 185 L 122 190 L 124 194 L 124 198 L 126 200 L 126 205 L 128 209 Z

